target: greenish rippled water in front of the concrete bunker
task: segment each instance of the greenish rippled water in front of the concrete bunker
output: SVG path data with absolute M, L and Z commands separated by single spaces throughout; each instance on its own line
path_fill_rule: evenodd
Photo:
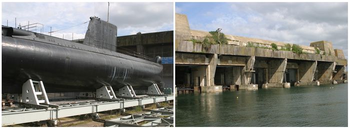
M 175 127 L 347 127 L 347 119 L 347 83 L 175 98 Z

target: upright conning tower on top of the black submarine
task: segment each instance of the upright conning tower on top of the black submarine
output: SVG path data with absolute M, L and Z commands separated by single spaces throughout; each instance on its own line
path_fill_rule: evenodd
M 116 33 L 116 25 L 91 16 L 83 44 L 115 52 Z

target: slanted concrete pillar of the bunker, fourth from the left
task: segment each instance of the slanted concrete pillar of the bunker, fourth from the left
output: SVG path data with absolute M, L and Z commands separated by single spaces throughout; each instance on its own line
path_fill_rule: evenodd
M 300 82 L 312 82 L 317 68 L 317 61 L 302 62 L 299 64 L 298 76 Z

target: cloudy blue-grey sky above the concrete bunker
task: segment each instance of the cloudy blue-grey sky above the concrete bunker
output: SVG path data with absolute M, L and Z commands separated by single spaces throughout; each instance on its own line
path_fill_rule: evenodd
M 330 41 L 347 59 L 347 2 L 176 2 L 189 28 L 310 46 Z

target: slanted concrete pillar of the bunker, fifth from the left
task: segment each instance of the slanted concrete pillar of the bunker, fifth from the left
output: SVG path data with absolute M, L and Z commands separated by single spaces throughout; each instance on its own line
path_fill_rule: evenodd
M 336 62 L 318 62 L 318 79 L 319 81 L 330 81 L 333 76 Z

